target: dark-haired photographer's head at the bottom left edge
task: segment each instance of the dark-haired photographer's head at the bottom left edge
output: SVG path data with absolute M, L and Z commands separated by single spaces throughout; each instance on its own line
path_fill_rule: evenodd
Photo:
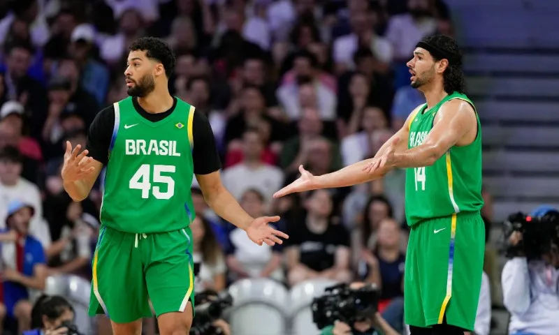
M 42 295 L 31 311 L 31 328 L 23 335 L 79 335 L 74 309 L 63 297 Z

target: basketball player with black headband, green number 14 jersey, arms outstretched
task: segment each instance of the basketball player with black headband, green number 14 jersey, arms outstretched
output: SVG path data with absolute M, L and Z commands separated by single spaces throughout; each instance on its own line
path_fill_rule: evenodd
M 375 158 L 342 170 L 301 177 L 275 194 L 335 188 L 406 168 L 405 208 L 411 227 L 405 265 L 405 322 L 412 335 L 464 334 L 474 329 L 485 228 L 481 198 L 481 126 L 464 95 L 456 41 L 424 38 L 407 63 L 412 87 L 427 103 Z

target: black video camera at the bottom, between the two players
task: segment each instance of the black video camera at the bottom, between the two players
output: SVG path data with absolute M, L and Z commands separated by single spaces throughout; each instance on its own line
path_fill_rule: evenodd
M 326 288 L 322 297 L 312 300 L 312 321 L 322 329 L 340 320 L 348 325 L 372 318 L 377 312 L 380 292 L 376 285 L 351 289 L 347 284 Z

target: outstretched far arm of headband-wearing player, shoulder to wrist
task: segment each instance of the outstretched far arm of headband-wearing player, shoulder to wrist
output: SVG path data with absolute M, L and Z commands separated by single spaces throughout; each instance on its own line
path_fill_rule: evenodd
M 421 107 L 421 106 L 420 106 Z M 409 117 L 405 121 L 404 126 L 400 128 L 390 140 L 386 141 L 382 144 L 382 147 L 377 151 L 375 154 L 375 158 L 382 156 L 386 150 L 391 147 L 391 144 L 395 142 L 395 139 L 398 138 L 398 145 L 395 147 L 395 151 L 405 151 L 407 149 L 407 138 L 409 135 L 409 122 L 413 121 L 416 111 L 419 110 L 419 107 L 409 114 Z M 337 188 L 337 187 L 345 187 L 345 186 L 353 186 L 356 184 L 363 184 L 367 181 L 375 180 L 384 177 L 384 174 L 391 170 L 390 167 L 380 168 L 375 170 L 374 172 L 366 172 L 363 171 L 363 168 L 369 165 L 375 158 L 365 159 L 364 161 L 359 161 L 357 163 L 348 165 L 347 167 L 337 170 L 332 173 L 323 174 L 321 176 L 317 176 L 313 181 L 316 187 L 314 188 Z

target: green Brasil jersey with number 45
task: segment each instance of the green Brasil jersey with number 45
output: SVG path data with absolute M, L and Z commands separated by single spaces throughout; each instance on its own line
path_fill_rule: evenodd
M 157 122 L 141 117 L 132 98 L 114 107 L 101 223 L 132 233 L 187 228 L 195 215 L 194 107 L 177 99 L 175 110 Z

